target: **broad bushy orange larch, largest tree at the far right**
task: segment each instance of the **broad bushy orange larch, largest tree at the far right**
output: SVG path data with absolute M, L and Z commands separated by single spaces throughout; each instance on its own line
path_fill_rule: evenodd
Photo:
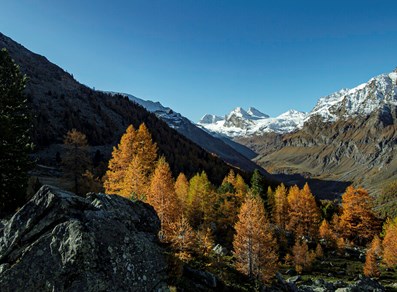
M 343 237 L 365 244 L 379 234 L 380 222 L 373 208 L 373 198 L 362 188 L 349 186 L 342 195 L 342 215 L 340 228 Z

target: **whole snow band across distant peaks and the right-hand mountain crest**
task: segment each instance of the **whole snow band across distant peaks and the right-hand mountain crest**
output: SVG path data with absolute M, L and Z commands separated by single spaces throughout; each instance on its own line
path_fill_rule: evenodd
M 255 108 L 247 111 L 238 107 L 224 119 L 198 125 L 213 135 L 237 137 L 260 135 L 267 132 L 279 134 L 301 129 L 314 116 L 325 121 L 366 116 L 377 109 L 397 106 L 397 71 L 382 74 L 352 89 L 342 89 L 321 97 L 309 113 L 290 110 L 271 118 Z

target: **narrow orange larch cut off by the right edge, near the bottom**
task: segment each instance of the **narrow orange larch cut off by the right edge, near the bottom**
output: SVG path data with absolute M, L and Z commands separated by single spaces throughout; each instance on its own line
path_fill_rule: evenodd
M 388 267 L 397 267 L 397 217 L 388 220 L 384 227 L 382 263 Z

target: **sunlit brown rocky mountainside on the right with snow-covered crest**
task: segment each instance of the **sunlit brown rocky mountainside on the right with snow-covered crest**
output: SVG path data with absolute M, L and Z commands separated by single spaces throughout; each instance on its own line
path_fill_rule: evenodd
M 376 193 L 397 178 L 397 73 L 319 99 L 302 128 L 239 137 L 272 173 L 354 182 Z

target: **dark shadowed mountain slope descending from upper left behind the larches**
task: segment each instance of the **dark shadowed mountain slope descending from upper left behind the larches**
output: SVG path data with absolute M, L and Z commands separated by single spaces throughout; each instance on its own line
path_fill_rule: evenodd
M 119 141 L 126 127 L 129 124 L 138 127 L 145 122 L 174 175 L 183 171 L 190 176 L 205 170 L 214 182 L 219 183 L 230 165 L 243 170 L 255 168 L 249 159 L 206 133 L 203 135 L 207 136 L 208 145 L 218 143 L 220 146 L 214 147 L 218 151 L 205 151 L 127 97 L 95 91 L 78 83 L 71 74 L 45 57 L 30 52 L 1 33 L 0 47 L 7 48 L 28 76 L 26 93 L 34 112 L 32 130 L 39 158 L 45 156 L 55 160 L 56 150 L 51 151 L 51 147 L 62 143 L 64 135 L 72 128 L 85 133 L 90 145 L 100 146 L 109 158 L 112 146 Z

